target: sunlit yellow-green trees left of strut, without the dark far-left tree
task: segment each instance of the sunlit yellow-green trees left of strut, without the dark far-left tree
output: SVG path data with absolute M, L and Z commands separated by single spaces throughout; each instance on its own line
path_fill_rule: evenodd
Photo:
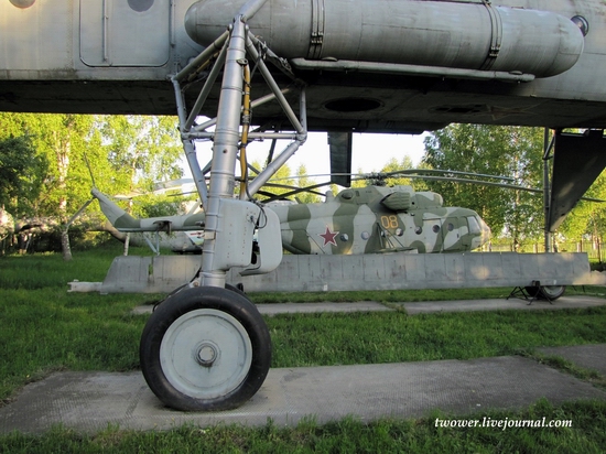
M 47 163 L 25 173 L 35 175 L 32 181 L 42 182 L 44 192 L 19 197 L 17 213 L 28 208 L 59 225 L 65 259 L 72 216 L 90 199 L 88 163 L 97 187 L 110 194 L 150 190 L 153 182 L 181 176 L 172 117 L 0 114 L 0 139 L 2 133 L 30 138 L 40 162 Z

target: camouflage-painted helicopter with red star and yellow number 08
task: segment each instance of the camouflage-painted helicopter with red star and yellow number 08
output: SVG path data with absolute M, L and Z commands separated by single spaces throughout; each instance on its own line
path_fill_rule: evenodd
M 204 213 L 136 219 L 93 190 L 101 210 L 120 231 L 198 231 Z M 474 210 L 445 207 L 440 194 L 412 186 L 346 188 L 323 203 L 270 202 L 280 219 L 282 246 L 292 253 L 360 255 L 465 252 L 490 237 Z

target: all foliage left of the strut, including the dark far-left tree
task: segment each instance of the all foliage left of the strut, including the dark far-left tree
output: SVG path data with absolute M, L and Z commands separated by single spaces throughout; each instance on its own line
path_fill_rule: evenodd
M 181 154 L 172 117 L 0 114 L 0 206 L 13 218 L 42 219 L 54 235 L 93 185 L 110 195 L 149 191 L 181 176 Z M 164 199 L 142 213 L 174 213 L 178 204 Z M 87 215 L 102 218 L 96 203 Z

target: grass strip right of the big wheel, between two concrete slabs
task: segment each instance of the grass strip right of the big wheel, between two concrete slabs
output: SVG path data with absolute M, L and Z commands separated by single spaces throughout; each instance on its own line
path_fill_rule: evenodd
M 284 314 L 268 318 L 268 325 L 274 367 L 469 359 L 606 342 L 606 306 L 414 316 Z

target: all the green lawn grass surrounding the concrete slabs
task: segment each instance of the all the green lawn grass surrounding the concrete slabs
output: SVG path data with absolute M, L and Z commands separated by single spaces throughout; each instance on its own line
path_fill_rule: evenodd
M 145 250 L 142 252 L 147 253 Z M 139 368 L 139 337 L 147 315 L 132 307 L 162 295 L 67 293 L 67 282 L 100 281 L 119 247 L 61 255 L 0 258 L 0 406 L 25 383 L 54 370 L 122 371 Z M 255 294 L 256 302 L 428 301 L 505 298 L 510 289 Z M 577 289 L 582 292 L 582 289 Z M 574 293 L 575 291 L 569 291 Z M 588 289 L 604 295 L 604 289 Z M 581 379 L 604 386 L 604 378 L 561 358 L 534 353 L 539 346 L 606 342 L 606 307 L 561 311 L 497 311 L 408 316 L 396 313 L 278 315 L 268 318 L 273 367 L 468 359 L 522 354 Z M 295 429 L 183 426 L 170 432 L 129 432 L 109 428 L 87 436 L 56 428 L 32 437 L 0 436 L 0 452 L 599 452 L 606 447 L 606 404 L 539 402 L 524 412 L 490 412 L 491 418 L 565 415 L 573 430 L 446 430 L 432 420 L 365 424 L 344 420 Z M 600 424 L 600 425 L 599 425 Z M 578 448 L 578 450 L 576 450 Z

